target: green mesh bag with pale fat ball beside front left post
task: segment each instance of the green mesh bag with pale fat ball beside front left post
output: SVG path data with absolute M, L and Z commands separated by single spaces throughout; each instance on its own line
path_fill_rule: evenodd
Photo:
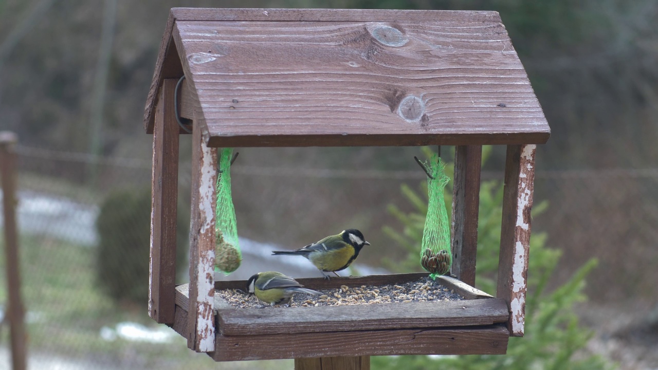
M 215 210 L 215 270 L 226 275 L 236 271 L 242 261 L 238 244 L 236 210 L 231 195 L 231 157 L 233 149 L 222 149 L 217 178 L 217 207 Z

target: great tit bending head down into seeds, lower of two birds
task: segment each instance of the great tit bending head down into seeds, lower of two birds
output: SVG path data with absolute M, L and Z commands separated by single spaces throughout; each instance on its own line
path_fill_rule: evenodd
M 257 273 L 249 278 L 247 282 L 247 292 L 255 294 L 256 297 L 270 305 L 289 304 L 295 293 L 313 294 L 320 296 L 320 292 L 302 288 L 295 279 L 287 277 L 276 271 L 266 271 Z

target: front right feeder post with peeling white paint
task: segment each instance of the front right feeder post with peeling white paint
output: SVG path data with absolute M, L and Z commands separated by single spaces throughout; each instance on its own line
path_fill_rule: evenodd
M 497 297 L 507 301 L 511 336 L 523 336 L 524 330 L 535 149 L 507 145 Z

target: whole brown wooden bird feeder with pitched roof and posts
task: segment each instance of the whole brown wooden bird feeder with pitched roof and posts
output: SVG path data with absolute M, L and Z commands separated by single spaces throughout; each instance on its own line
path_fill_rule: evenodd
M 191 125 L 180 127 L 177 115 Z M 498 13 L 172 9 L 144 124 L 153 134 L 149 313 L 191 349 L 216 361 L 312 366 L 351 356 L 367 367 L 373 355 L 505 354 L 509 337 L 523 335 L 535 148 L 550 129 Z M 175 286 L 178 136 L 187 130 L 190 282 Z M 490 144 L 507 145 L 495 297 L 473 288 Z M 246 285 L 214 280 L 218 147 L 370 145 L 455 145 L 456 278 L 440 279 L 466 300 L 234 309 L 215 295 Z M 299 282 L 338 288 L 421 275 Z

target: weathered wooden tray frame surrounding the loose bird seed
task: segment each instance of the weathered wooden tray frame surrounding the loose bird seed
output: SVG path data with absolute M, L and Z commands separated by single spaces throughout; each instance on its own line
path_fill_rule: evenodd
M 299 278 L 314 289 L 346 285 L 402 284 L 427 273 L 365 277 Z M 509 331 L 505 300 L 451 278 L 438 284 L 464 300 L 266 307 L 236 309 L 215 295 L 218 334 L 216 361 L 320 356 L 382 356 L 412 354 L 504 354 Z M 247 280 L 215 282 L 215 288 L 244 289 Z M 185 335 L 189 310 L 188 284 L 176 287 L 174 330 Z M 259 348 L 254 351 L 253 348 Z

